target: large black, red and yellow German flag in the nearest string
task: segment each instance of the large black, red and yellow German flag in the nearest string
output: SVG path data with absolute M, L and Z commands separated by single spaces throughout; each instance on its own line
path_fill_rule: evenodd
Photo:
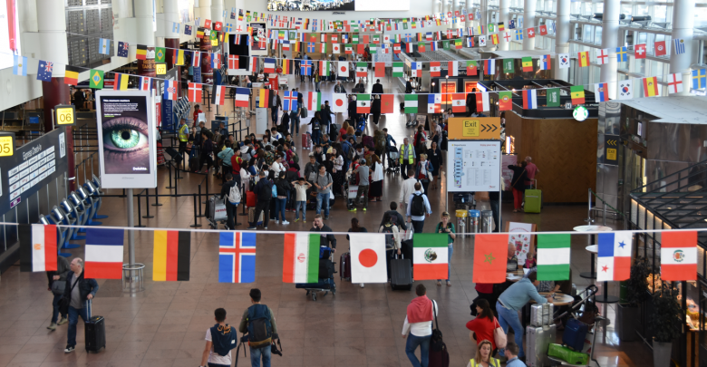
M 152 280 L 188 281 L 191 234 L 189 231 L 155 231 Z

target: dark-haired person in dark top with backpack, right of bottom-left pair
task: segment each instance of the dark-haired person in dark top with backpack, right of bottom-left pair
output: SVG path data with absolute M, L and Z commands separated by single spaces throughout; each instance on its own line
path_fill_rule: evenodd
M 260 289 L 250 290 L 250 303 L 253 304 L 243 313 L 238 325 L 240 333 L 247 333 L 250 347 L 250 365 L 260 367 L 260 356 L 263 356 L 263 367 L 270 367 L 270 345 L 277 339 L 277 325 L 273 310 L 266 304 L 261 304 Z

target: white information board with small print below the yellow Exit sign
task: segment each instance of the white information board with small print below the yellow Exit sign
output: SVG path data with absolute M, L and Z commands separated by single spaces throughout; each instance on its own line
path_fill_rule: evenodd
M 451 141 L 447 150 L 449 192 L 500 190 L 500 141 Z

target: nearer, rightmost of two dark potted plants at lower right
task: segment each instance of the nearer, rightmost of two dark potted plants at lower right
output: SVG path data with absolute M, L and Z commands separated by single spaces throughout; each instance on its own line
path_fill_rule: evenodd
M 674 283 L 663 282 L 660 292 L 653 295 L 653 313 L 648 324 L 653 330 L 653 365 L 670 366 L 673 340 L 683 332 L 683 310 L 678 302 L 680 291 Z

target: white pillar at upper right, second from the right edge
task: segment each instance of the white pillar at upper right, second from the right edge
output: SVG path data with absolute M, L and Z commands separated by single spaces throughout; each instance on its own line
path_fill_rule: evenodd
M 602 48 L 614 52 L 618 47 L 619 13 L 621 2 L 619 0 L 604 0 L 604 15 L 602 16 Z M 597 50 L 600 52 L 600 50 Z M 608 63 L 601 66 L 599 81 L 608 82 L 609 98 L 616 98 L 616 82 L 618 82 L 618 61 L 616 57 L 609 57 Z

